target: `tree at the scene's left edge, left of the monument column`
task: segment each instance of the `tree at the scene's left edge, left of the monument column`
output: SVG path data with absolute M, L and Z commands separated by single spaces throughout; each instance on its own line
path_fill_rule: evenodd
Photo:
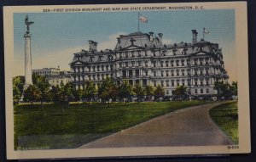
M 15 76 L 13 78 L 13 102 L 19 103 L 22 96 L 25 79 L 23 76 Z

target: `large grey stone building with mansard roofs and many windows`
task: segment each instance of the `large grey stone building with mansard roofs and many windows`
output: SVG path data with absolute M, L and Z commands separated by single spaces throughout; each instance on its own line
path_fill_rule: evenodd
M 197 41 L 192 30 L 192 42 L 165 44 L 163 34 L 134 32 L 120 35 L 114 49 L 97 51 L 97 42 L 89 41 L 89 51 L 74 53 L 70 63 L 71 81 L 84 88 L 86 81 L 96 85 L 106 77 L 118 84 L 127 80 L 143 87 L 161 85 L 166 96 L 176 87 L 187 87 L 189 94 L 214 95 L 215 81 L 228 81 L 218 43 Z

